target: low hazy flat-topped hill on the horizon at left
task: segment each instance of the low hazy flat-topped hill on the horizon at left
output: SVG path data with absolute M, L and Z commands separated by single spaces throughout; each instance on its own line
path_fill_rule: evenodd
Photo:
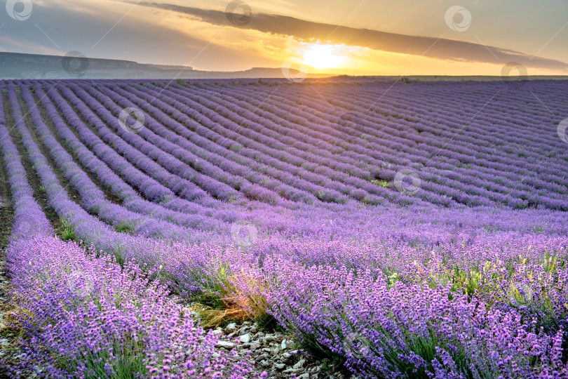
M 309 77 L 330 77 L 309 74 Z M 0 79 L 234 79 L 283 78 L 280 68 L 254 67 L 245 71 L 200 71 L 192 67 L 148 65 L 130 60 L 62 57 L 0 52 Z

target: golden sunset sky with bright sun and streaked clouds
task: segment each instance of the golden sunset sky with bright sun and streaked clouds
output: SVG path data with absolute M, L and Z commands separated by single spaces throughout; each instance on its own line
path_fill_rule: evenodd
M 222 71 L 293 62 L 337 74 L 500 75 L 518 62 L 528 74 L 568 74 L 565 0 L 2 2 L 1 51 Z

